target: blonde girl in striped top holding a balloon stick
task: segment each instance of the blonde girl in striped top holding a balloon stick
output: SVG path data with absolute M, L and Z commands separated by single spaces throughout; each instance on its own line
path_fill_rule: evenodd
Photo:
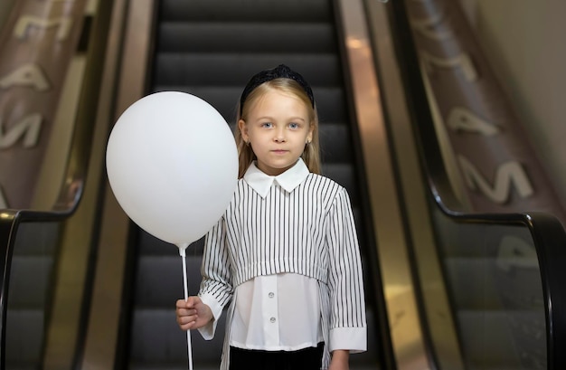
M 240 180 L 208 232 L 198 297 L 179 326 L 214 335 L 227 311 L 222 369 L 347 369 L 366 350 L 362 267 L 348 194 L 318 175 L 311 88 L 285 65 L 241 94 Z

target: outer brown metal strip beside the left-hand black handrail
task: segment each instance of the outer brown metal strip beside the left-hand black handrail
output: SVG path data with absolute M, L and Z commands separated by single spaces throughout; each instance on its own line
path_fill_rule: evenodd
M 80 190 L 80 205 L 72 217 L 62 223 L 59 235 L 51 319 L 46 333 L 42 365 L 45 369 L 73 368 L 77 360 L 77 346 L 82 343 L 84 302 L 88 304 L 90 301 L 89 272 L 94 262 L 91 259 L 92 248 L 98 233 L 99 183 L 103 176 L 108 109 L 115 83 L 108 71 L 108 64 L 111 65 L 115 59 L 111 52 L 112 44 L 116 43 L 116 36 L 107 38 L 111 11 L 111 1 L 88 2 L 85 13 L 91 19 L 90 28 L 85 30 L 89 31 L 86 34 L 90 36 L 88 47 L 86 52 L 81 52 L 75 58 L 74 66 L 68 72 L 68 88 L 63 91 L 63 96 L 70 97 L 66 101 L 75 101 L 71 99 L 73 96 L 75 99 L 80 97 L 80 100 L 68 107 L 67 112 L 62 112 L 61 109 L 61 116 L 72 116 L 77 120 L 75 125 L 78 128 L 74 130 L 74 135 L 85 127 L 90 127 L 91 132 L 81 135 L 88 145 L 84 142 L 75 145 L 70 156 L 69 172 L 80 175 L 80 179 L 84 181 L 84 191 Z M 103 78 L 102 71 L 105 71 Z M 91 86 L 97 86 L 97 89 L 91 90 Z M 86 121 L 84 117 L 91 121 Z M 73 132 L 72 129 L 69 131 Z M 90 148 L 91 150 L 86 150 Z M 81 150 L 85 153 L 81 153 Z M 83 180 L 85 176 L 86 180 Z M 73 180 L 69 181 L 66 186 L 73 185 Z

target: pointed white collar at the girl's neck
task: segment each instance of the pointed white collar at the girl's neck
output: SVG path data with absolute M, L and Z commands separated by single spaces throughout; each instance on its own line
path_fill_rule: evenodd
M 274 182 L 290 193 L 307 178 L 309 173 L 310 171 L 308 171 L 307 165 L 305 165 L 302 158 L 298 158 L 295 166 L 290 167 L 287 171 L 278 176 L 265 174 L 256 166 L 256 162 L 254 161 L 251 163 L 250 167 L 248 167 L 244 175 L 244 180 L 259 196 L 265 198 Z

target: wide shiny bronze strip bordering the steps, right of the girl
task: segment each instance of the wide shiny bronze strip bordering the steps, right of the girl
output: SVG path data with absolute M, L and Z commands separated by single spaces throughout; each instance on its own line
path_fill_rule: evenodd
M 407 251 L 409 241 L 404 231 L 400 194 L 391 159 L 391 143 L 385 127 L 382 96 L 375 74 L 363 2 L 342 0 L 339 3 L 393 351 L 399 369 L 427 369 L 428 359 L 410 274 Z

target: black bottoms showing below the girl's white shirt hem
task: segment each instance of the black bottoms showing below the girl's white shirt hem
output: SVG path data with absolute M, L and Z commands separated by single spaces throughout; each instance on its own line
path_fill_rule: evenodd
M 320 370 L 324 343 L 298 351 L 260 351 L 230 347 L 230 370 Z

